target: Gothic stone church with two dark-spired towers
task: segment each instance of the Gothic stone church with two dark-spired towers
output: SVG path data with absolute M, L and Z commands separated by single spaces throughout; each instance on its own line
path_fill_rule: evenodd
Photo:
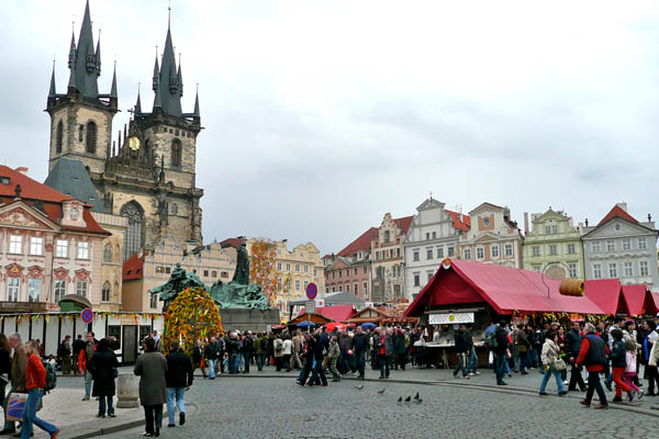
M 169 237 L 177 246 L 201 245 L 203 190 L 196 185 L 197 136 L 201 127 L 199 95 L 192 113 L 181 111 L 183 81 L 168 25 L 160 63 L 153 77 L 154 104 L 142 111 L 139 92 L 129 127 L 112 142 L 119 111 L 116 68 L 110 93 L 99 93 L 101 46 L 93 44 L 89 1 L 80 35 L 71 35 L 70 76 L 66 93 L 51 77 L 46 111 L 51 115 L 48 171 L 60 158 L 81 161 L 107 213 L 129 218 L 123 259 Z

